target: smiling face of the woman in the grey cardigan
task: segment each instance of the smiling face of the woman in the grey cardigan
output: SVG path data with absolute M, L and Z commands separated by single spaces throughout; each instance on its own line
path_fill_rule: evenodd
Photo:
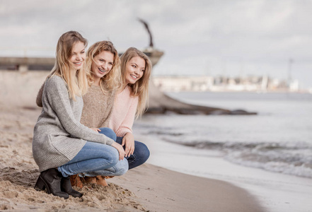
M 71 49 L 71 57 L 69 58 L 71 66 L 75 70 L 82 68 L 84 61 L 86 60 L 86 50 L 84 49 L 83 42 L 76 42 Z

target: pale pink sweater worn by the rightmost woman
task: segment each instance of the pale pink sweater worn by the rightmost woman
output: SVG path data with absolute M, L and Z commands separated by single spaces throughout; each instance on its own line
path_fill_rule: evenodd
M 108 127 L 115 131 L 117 136 L 122 137 L 127 132 L 132 133 L 132 125 L 138 102 L 139 97 L 131 96 L 131 88 L 129 86 L 126 86 L 121 93 L 116 95 L 112 117 L 108 123 Z

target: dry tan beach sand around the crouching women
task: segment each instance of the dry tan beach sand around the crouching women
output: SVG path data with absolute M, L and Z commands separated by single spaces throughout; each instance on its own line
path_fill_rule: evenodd
M 47 72 L 0 71 L 1 211 L 264 211 L 241 187 L 149 163 L 108 179 L 109 187 L 76 188 L 83 193 L 80 199 L 35 191 L 39 172 L 31 143 L 41 111 L 35 95 L 45 76 Z

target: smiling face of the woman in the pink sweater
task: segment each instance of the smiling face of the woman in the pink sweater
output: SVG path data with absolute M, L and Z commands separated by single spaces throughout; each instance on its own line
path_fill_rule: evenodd
M 127 84 L 136 83 L 144 74 L 145 60 L 141 57 L 132 57 L 126 64 L 125 81 Z

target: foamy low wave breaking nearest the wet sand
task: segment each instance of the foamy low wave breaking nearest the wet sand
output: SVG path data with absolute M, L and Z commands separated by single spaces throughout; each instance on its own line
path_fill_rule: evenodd
M 180 141 L 168 137 L 163 140 L 222 151 L 224 159 L 231 163 L 312 178 L 312 148 L 307 143 Z

